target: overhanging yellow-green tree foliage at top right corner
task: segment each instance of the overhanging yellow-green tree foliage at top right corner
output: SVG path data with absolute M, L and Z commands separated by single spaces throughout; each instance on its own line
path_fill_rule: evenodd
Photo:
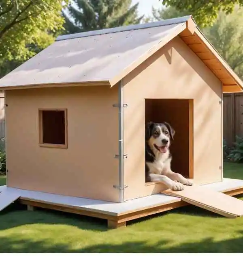
M 160 0 L 159 0 L 160 1 Z M 230 14 L 234 6 L 243 6 L 243 0 L 161 0 L 166 7 L 188 11 L 201 27 L 212 25 L 220 11 Z

